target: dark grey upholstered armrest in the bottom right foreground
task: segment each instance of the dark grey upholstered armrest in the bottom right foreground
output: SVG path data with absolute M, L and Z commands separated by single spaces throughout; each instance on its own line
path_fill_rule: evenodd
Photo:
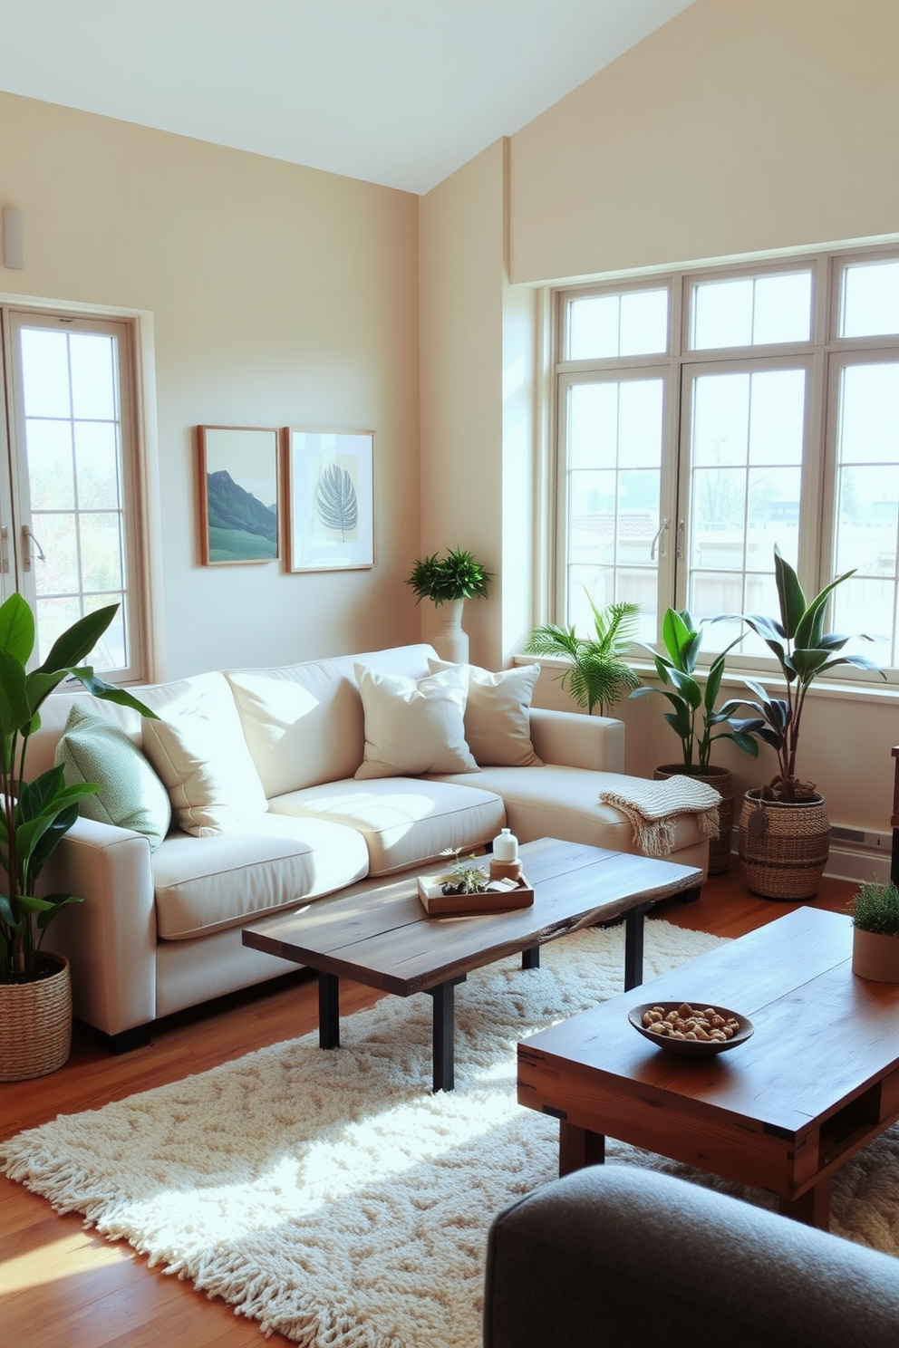
M 899 1260 L 631 1165 L 554 1181 L 491 1228 L 485 1348 L 891 1348 Z

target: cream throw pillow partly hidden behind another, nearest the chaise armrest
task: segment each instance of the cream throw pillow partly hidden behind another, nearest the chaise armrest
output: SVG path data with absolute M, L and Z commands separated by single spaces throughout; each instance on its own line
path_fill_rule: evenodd
M 542 767 L 531 744 L 531 698 L 540 673 L 539 665 L 516 665 L 491 674 L 477 665 L 449 665 L 429 659 L 433 673 L 468 670 L 465 739 L 481 767 Z

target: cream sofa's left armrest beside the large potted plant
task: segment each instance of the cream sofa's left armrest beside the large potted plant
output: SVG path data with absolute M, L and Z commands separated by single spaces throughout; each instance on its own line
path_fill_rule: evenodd
M 150 844 L 140 833 L 78 818 L 40 878 L 44 894 L 81 894 L 44 945 L 69 957 L 74 1014 L 104 1034 L 156 1016 L 156 910 Z

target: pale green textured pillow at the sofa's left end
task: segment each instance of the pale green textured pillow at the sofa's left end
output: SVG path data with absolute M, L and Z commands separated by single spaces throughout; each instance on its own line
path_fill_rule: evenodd
M 67 786 L 96 782 L 100 787 L 81 801 L 86 818 L 143 833 L 150 851 L 156 851 L 171 822 L 168 793 L 115 721 L 75 704 L 57 744 L 55 762 L 62 764 Z

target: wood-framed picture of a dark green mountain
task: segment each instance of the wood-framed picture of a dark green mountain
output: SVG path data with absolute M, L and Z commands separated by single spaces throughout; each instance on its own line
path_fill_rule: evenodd
M 280 433 L 261 426 L 198 426 L 199 549 L 204 566 L 280 557 Z

